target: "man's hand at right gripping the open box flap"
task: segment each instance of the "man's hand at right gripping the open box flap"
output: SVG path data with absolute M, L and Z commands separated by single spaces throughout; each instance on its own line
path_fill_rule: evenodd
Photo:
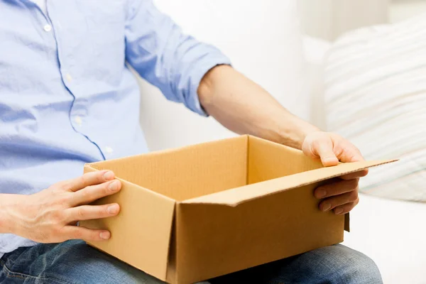
M 332 166 L 340 162 L 351 163 L 364 160 L 358 148 L 334 133 L 317 131 L 306 136 L 302 151 L 311 158 L 320 158 L 322 165 Z M 335 214 L 345 214 L 359 202 L 358 181 L 368 174 L 368 170 L 343 175 L 333 182 L 315 189 L 314 195 L 320 202 L 322 211 L 333 210 Z

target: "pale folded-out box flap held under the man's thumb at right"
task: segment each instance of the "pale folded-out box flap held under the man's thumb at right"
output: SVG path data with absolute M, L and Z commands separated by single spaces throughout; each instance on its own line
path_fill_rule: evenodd
M 319 168 L 317 170 L 308 170 L 295 175 L 288 175 L 283 178 L 275 178 L 264 182 L 253 183 L 243 187 L 236 187 L 231 190 L 216 192 L 211 195 L 185 200 L 183 204 L 224 204 L 236 206 L 249 200 L 254 200 L 266 195 L 272 195 L 283 190 L 290 190 L 303 185 L 310 185 L 314 182 L 336 178 L 347 173 L 354 173 L 359 170 L 371 168 L 376 165 L 391 163 L 395 160 L 373 160 L 356 163 L 341 163 L 333 167 Z

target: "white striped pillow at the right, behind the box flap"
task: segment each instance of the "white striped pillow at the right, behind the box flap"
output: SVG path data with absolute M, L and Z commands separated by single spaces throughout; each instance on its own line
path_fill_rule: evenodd
M 325 63 L 327 129 L 355 143 L 368 160 L 400 158 L 371 169 L 360 190 L 426 201 L 426 15 L 344 35 Z

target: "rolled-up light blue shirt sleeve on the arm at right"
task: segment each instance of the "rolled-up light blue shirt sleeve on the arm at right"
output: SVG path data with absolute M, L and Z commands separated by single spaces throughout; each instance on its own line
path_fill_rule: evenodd
M 182 33 L 152 0 L 129 1 L 126 60 L 167 99 L 204 116 L 197 94 L 200 81 L 212 67 L 230 64 L 214 46 Z

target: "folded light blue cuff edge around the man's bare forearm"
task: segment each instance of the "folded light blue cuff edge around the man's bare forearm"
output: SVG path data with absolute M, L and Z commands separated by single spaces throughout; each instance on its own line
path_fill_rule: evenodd
M 214 55 L 209 54 L 208 56 L 205 56 L 205 58 L 203 58 L 200 62 L 197 62 L 197 65 L 192 70 L 187 108 L 201 116 L 209 115 L 206 111 L 204 111 L 200 104 L 200 98 L 198 97 L 197 90 L 204 75 L 217 65 L 231 65 L 231 60 L 218 51 L 217 53 L 214 53 Z

